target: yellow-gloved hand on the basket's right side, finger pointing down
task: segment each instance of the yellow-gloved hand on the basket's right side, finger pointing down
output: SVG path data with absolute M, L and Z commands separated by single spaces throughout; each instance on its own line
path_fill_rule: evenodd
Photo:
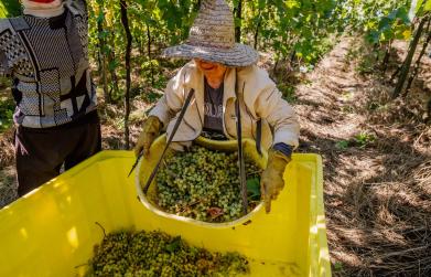
M 284 187 L 283 173 L 291 158 L 276 150 L 268 152 L 268 166 L 260 179 L 260 194 L 267 213 L 271 211 L 271 201 L 276 200 Z

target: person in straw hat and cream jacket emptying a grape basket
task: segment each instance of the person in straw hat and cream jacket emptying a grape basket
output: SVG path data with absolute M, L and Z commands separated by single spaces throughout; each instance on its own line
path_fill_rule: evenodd
M 164 55 L 192 61 L 168 83 L 164 96 L 143 125 L 136 155 L 143 151 L 147 156 L 162 129 L 170 136 L 191 89 L 195 95 L 170 147 L 183 150 L 201 135 L 236 139 L 238 93 L 243 137 L 256 139 L 261 132 L 261 146 L 269 152 L 268 167 L 261 177 L 261 194 L 266 211 L 270 212 L 271 201 L 283 189 L 282 175 L 292 150 L 298 147 L 300 127 L 295 113 L 282 99 L 276 84 L 266 71 L 257 67 L 258 53 L 235 43 L 234 18 L 227 3 L 202 1 L 187 41 L 166 49 Z

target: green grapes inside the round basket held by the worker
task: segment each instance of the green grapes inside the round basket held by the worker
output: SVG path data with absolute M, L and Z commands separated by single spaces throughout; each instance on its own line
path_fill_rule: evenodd
M 259 180 L 261 169 L 246 157 L 247 180 Z M 238 152 L 192 146 L 164 161 L 153 200 L 165 212 L 205 222 L 228 222 L 243 215 Z M 259 199 L 249 199 L 248 212 Z

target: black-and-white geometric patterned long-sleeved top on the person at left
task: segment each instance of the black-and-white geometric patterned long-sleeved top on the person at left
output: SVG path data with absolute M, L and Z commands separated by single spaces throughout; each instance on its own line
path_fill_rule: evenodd
M 84 0 L 65 1 L 54 18 L 0 20 L 0 75 L 12 77 L 15 124 L 47 128 L 96 109 Z

